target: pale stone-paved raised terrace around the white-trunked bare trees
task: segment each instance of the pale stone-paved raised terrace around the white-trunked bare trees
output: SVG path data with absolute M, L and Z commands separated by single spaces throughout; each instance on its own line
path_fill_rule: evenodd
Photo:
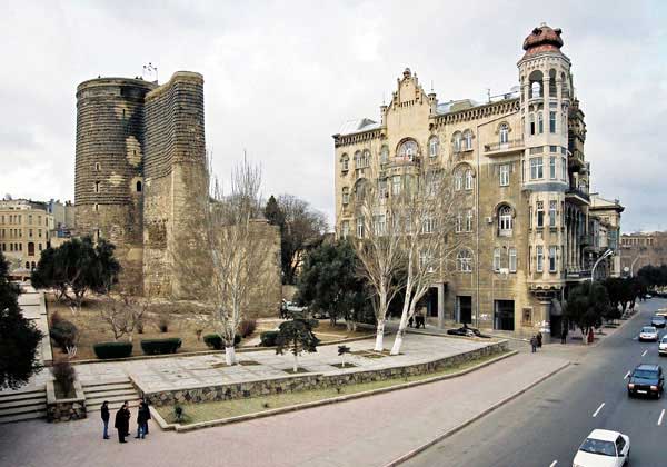
M 394 339 L 387 338 L 386 346 Z M 372 349 L 375 339 L 349 342 L 352 351 Z M 299 356 L 299 366 L 311 372 L 342 374 L 370 369 L 382 369 L 398 366 L 421 364 L 446 358 L 485 347 L 487 341 L 449 339 L 436 336 L 409 335 L 404 340 L 401 355 L 380 358 L 367 358 L 358 355 L 346 356 L 346 364 L 355 367 L 339 369 L 338 346 L 321 346 L 315 354 Z M 270 379 L 288 376 L 287 369 L 292 367 L 291 354 L 276 355 L 275 350 L 258 350 L 237 354 L 243 361 L 258 365 L 225 366 L 223 354 L 200 355 L 190 357 L 151 358 L 145 360 L 113 361 L 78 365 L 77 374 L 80 381 L 89 382 L 113 381 L 130 376 L 145 391 L 175 390 L 199 386 L 220 385 L 225 382 L 241 382 L 259 379 Z

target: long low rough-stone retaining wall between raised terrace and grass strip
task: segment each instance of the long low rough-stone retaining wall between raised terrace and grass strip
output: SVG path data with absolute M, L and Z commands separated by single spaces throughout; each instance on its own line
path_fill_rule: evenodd
M 309 389 L 340 387 L 360 382 L 379 381 L 385 379 L 404 378 L 425 375 L 440 369 L 460 365 L 480 357 L 500 354 L 508 350 L 506 340 L 490 344 L 480 349 L 458 354 L 424 364 L 382 368 L 378 370 L 350 370 L 335 375 L 321 372 L 299 376 L 286 376 L 253 381 L 233 382 L 227 385 L 193 387 L 189 389 L 145 393 L 142 396 L 155 406 L 170 406 L 175 403 L 209 403 L 215 400 L 240 399 L 245 397 L 268 396 L 271 394 L 292 393 Z M 390 357 L 387 357 L 390 358 Z

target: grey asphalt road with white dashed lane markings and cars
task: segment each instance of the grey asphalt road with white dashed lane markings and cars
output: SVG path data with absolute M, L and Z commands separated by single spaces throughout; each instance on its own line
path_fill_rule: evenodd
M 664 307 L 666 299 L 643 302 L 638 316 L 569 368 L 405 466 L 571 466 L 577 448 L 595 428 L 630 437 L 631 466 L 667 466 L 667 393 L 660 400 L 630 399 L 625 379 L 641 362 L 667 369 L 657 344 L 637 340 L 641 326 Z M 660 329 L 660 337 L 664 334 Z

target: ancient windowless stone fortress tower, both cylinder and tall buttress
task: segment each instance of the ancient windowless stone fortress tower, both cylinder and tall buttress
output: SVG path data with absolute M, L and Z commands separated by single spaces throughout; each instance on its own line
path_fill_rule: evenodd
M 117 246 L 122 287 L 176 299 L 206 292 L 192 286 L 192 274 L 210 277 L 210 266 L 181 267 L 202 248 L 206 163 L 201 74 L 179 71 L 162 86 L 128 78 L 79 85 L 76 234 Z M 257 229 L 275 250 L 257 315 L 273 315 L 281 299 L 280 234 L 268 223 Z

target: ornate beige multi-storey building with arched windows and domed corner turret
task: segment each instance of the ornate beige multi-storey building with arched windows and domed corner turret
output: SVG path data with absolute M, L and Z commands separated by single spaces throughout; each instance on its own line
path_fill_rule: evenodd
M 569 286 L 590 277 L 586 125 L 559 29 L 524 41 L 518 87 L 488 102 L 438 100 L 406 69 L 380 121 L 347 122 L 334 136 L 336 228 L 362 235 L 355 207 L 361 183 L 400 183 L 396 167 L 452 168 L 459 207 L 456 252 L 426 297 L 428 315 L 500 330 L 555 334 Z M 369 173 L 380 173 L 367 180 Z

